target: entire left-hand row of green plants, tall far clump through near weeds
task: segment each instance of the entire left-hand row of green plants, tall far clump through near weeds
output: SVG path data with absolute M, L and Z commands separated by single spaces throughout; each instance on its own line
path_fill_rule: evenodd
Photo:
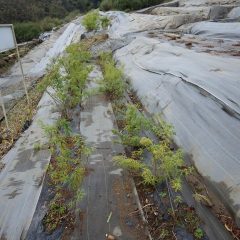
M 66 49 L 66 54 L 55 61 L 40 87 L 53 89 L 49 94 L 61 112 L 61 118 L 53 126 L 42 124 L 49 138 L 52 153 L 48 176 L 54 189 L 54 197 L 44 217 L 44 225 L 48 232 L 54 231 L 64 221 L 73 218 L 76 204 L 83 196 L 83 159 L 91 151 L 82 137 L 72 132 L 70 119 L 72 109 L 81 105 L 82 99 L 87 95 L 85 85 L 92 70 L 90 60 L 91 54 L 81 44 L 71 44 Z

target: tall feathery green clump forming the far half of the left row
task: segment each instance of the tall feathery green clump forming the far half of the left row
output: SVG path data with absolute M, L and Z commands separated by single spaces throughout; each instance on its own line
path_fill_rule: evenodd
M 80 104 L 87 95 L 84 89 L 92 70 L 90 58 L 90 52 L 81 44 L 70 45 L 66 49 L 66 55 L 56 61 L 40 86 L 54 89 L 52 96 L 66 117 L 69 110 Z

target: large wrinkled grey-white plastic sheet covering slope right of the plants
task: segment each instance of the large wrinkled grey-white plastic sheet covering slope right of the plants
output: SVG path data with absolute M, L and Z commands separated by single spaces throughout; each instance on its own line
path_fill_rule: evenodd
M 240 59 L 140 37 L 118 50 L 133 89 L 240 217 Z

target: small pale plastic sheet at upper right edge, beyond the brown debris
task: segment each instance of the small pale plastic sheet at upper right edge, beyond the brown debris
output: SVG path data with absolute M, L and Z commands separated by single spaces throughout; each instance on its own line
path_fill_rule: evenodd
M 199 22 L 192 24 L 186 32 L 208 38 L 238 40 L 240 22 Z

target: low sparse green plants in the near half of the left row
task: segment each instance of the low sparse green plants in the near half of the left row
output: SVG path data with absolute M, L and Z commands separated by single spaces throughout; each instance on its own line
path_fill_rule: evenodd
M 69 124 L 66 119 L 59 119 L 54 126 L 42 126 L 49 137 L 52 161 L 48 176 L 56 192 L 44 218 L 48 232 L 55 230 L 72 214 L 82 196 L 85 167 L 81 158 L 90 150 L 80 135 L 73 135 Z

